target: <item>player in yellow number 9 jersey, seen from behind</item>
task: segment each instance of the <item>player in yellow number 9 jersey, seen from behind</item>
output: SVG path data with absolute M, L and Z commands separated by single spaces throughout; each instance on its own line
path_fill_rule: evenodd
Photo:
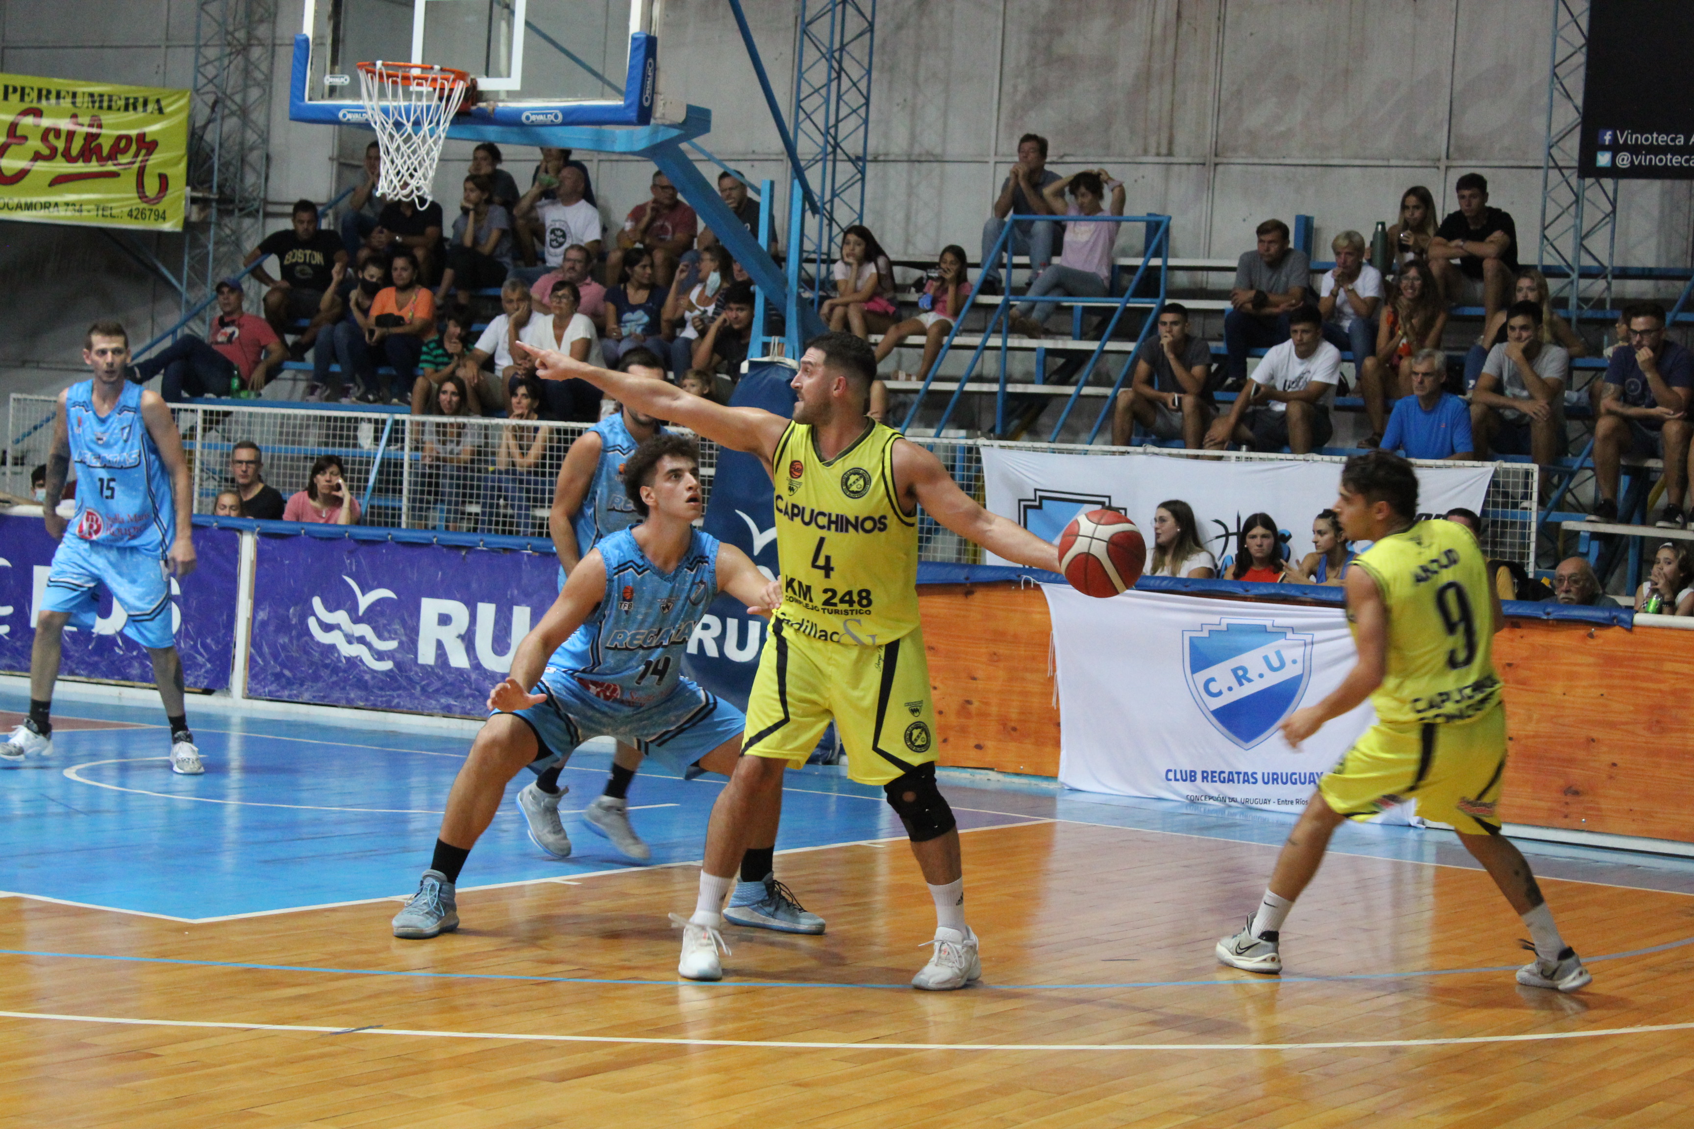
M 1299 745 L 1325 721 L 1370 697 L 1376 724 L 1323 775 L 1277 856 L 1259 911 L 1218 941 L 1218 960 L 1282 972 L 1282 919 L 1323 862 L 1342 819 L 1367 819 L 1408 799 L 1425 819 L 1450 823 L 1533 938 L 1518 983 L 1575 992 L 1592 977 L 1558 936 L 1530 863 L 1501 834 L 1506 708 L 1492 638 L 1504 626 L 1487 562 L 1455 521 L 1416 521 L 1418 476 L 1386 450 L 1347 460 L 1335 513 L 1348 540 L 1374 542 L 1347 570 L 1347 620 L 1359 665 L 1316 706 L 1282 721 Z

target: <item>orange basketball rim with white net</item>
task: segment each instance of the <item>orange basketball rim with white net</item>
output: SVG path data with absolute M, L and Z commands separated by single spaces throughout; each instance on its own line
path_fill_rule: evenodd
M 383 151 L 378 196 L 412 200 L 418 208 L 429 205 L 440 142 L 469 85 L 471 76 L 451 66 L 359 64 L 364 112 Z

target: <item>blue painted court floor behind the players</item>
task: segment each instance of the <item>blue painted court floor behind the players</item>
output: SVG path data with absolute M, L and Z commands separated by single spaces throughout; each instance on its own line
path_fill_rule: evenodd
M 0 689 L 0 709 L 27 696 Z M 207 765 L 178 777 L 166 760 L 156 704 L 80 697 L 61 687 L 54 714 L 146 728 L 54 730 L 51 760 L 0 768 L 0 892 L 190 921 L 332 906 L 412 892 L 429 865 L 440 812 L 469 733 L 271 718 L 237 702 L 195 699 L 190 723 Z M 412 728 L 415 724 L 415 728 Z M 610 746 L 579 752 L 564 772 L 567 812 L 600 794 Z M 657 768 L 656 765 L 652 768 Z M 1174 836 L 1281 845 L 1291 819 L 1260 811 L 1074 792 L 1050 780 L 942 774 L 960 828 L 1057 819 Z M 559 862 L 525 834 L 507 802 L 466 867 L 464 889 L 569 878 L 630 867 L 567 814 L 574 853 Z M 698 860 L 722 780 L 644 770 L 632 821 L 649 865 Z M 832 768 L 789 775 L 779 850 L 901 838 L 881 789 Z M 1548 878 L 1694 894 L 1694 860 L 1521 841 Z M 1343 826 L 1337 851 L 1411 863 L 1474 867 L 1455 836 Z M 1265 872 L 1272 863 L 1265 851 Z

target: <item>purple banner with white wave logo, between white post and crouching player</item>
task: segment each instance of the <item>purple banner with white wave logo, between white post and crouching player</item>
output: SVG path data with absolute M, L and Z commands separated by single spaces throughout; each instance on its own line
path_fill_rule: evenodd
M 557 574 L 551 553 L 261 535 L 247 694 L 481 716 Z

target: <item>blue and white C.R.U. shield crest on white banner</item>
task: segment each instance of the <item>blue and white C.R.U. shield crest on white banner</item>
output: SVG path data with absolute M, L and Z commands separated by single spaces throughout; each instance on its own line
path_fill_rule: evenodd
M 1252 748 L 1299 706 L 1311 680 L 1311 636 L 1272 620 L 1223 618 L 1182 631 L 1182 672 L 1206 719 Z

